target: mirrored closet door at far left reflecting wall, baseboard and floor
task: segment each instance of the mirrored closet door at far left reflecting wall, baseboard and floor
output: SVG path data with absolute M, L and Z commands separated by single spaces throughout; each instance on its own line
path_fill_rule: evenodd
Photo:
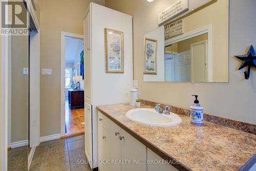
M 29 36 L 11 36 L 8 171 L 28 170 Z

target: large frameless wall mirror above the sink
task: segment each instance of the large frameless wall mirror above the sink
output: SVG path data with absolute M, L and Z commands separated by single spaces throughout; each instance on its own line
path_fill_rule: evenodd
M 187 11 L 144 35 L 143 80 L 228 82 L 228 1 L 180 2 Z

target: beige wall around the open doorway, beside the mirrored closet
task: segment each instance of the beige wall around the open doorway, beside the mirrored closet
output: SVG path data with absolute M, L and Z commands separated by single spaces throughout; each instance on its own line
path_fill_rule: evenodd
M 83 34 L 84 0 L 40 0 L 40 137 L 60 134 L 60 32 Z

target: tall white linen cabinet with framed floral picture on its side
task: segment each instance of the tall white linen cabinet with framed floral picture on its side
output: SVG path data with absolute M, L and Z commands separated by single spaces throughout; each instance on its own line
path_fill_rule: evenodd
M 105 28 L 123 32 L 124 73 L 105 73 Z M 89 161 L 98 159 L 96 106 L 127 102 L 126 93 L 133 86 L 132 30 L 132 16 L 90 3 L 84 17 L 84 134 Z

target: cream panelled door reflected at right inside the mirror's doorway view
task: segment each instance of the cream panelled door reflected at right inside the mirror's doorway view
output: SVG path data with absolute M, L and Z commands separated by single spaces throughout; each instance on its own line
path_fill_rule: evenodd
M 190 45 L 191 81 L 207 82 L 207 40 Z

